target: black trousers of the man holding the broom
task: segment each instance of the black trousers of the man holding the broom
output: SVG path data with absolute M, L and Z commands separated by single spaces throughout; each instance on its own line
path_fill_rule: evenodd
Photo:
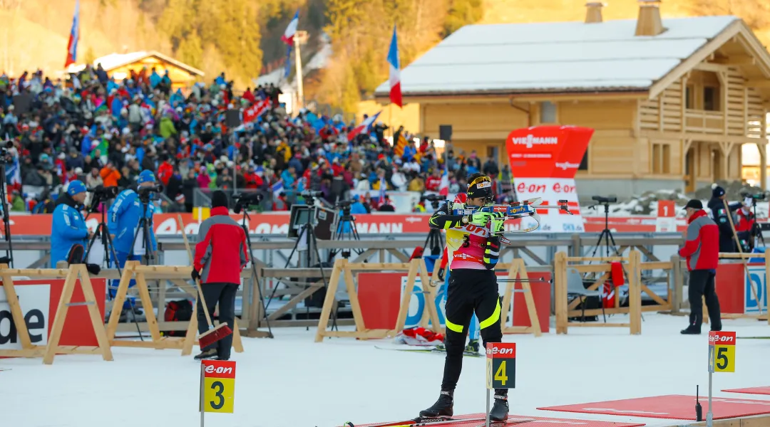
M 203 298 L 206 300 L 206 309 L 209 311 L 212 321 L 214 318 L 214 309 L 219 303 L 219 323 L 227 323 L 230 329 L 235 329 L 236 319 L 236 292 L 238 285 L 233 283 L 206 283 L 201 284 Z M 203 304 L 198 298 L 198 333 L 205 333 L 209 330 L 209 323 L 206 321 L 206 314 L 203 313 Z M 233 334 L 229 334 L 216 343 L 207 346 L 201 351 L 216 349 L 219 359 L 229 359 L 230 348 L 233 346 Z

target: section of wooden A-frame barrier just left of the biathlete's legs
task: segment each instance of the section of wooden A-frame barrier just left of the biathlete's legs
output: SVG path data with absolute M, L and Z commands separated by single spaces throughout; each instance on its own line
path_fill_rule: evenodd
M 403 291 L 401 298 L 400 309 L 398 312 L 398 318 L 396 320 L 396 326 L 393 329 L 367 329 L 367 326 L 363 323 L 363 315 L 361 314 L 361 307 L 358 302 L 358 293 L 356 291 L 356 283 L 353 282 L 353 271 L 360 270 L 407 270 L 407 287 Z M 436 300 L 436 293 L 434 292 L 434 286 L 430 286 L 430 279 L 428 278 L 427 267 L 425 266 L 425 260 L 417 259 L 411 260 L 409 263 L 349 263 L 346 259 L 336 260 L 332 269 L 331 278 L 329 280 L 329 288 L 326 290 L 326 298 L 323 300 L 323 309 L 321 309 L 321 316 L 318 320 L 318 330 L 316 332 L 316 343 L 323 341 L 324 336 L 347 336 L 358 339 L 370 339 L 370 338 L 387 338 L 396 336 L 402 329 L 407 321 L 407 313 L 409 313 L 409 302 L 414 290 L 414 282 L 417 279 L 417 274 L 420 275 L 420 283 L 423 283 L 423 294 L 425 295 L 425 311 L 423 312 L 423 319 L 421 324 L 426 324 L 426 316 L 430 319 L 430 327 L 434 332 L 440 332 L 440 323 L 438 319 L 438 313 L 436 311 L 436 304 L 431 303 Z M 340 285 L 340 277 L 343 276 L 345 280 L 345 287 L 347 294 L 350 297 L 350 306 L 353 310 L 353 319 L 356 323 L 355 331 L 330 331 L 327 330 L 329 325 L 329 319 L 332 313 L 333 306 L 336 305 L 335 293 L 337 287 Z

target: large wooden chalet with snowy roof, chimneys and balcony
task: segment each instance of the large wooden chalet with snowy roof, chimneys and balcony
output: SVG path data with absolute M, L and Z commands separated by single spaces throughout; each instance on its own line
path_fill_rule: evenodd
M 637 19 L 604 22 L 602 6 L 588 3 L 584 22 L 460 28 L 401 72 L 420 133 L 451 124 L 454 151 L 504 162 L 515 128 L 593 127 L 577 172 L 588 197 L 740 180 L 742 144 L 767 164 L 770 54 L 745 22 L 661 20 L 649 0 Z

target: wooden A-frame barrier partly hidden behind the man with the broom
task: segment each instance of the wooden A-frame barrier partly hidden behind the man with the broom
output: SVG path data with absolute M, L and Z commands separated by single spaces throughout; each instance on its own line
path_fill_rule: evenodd
M 109 316 L 107 324 L 107 337 L 111 346 L 116 347 L 141 347 L 149 349 L 181 349 L 182 356 L 192 354 L 192 346 L 197 345 L 196 335 L 198 333 L 198 304 L 192 305 L 192 316 L 184 338 L 161 336 L 158 327 L 158 319 L 155 316 L 155 310 L 152 309 L 152 300 L 147 288 L 147 279 L 187 279 L 192 267 L 190 266 L 142 266 L 139 261 L 127 261 L 123 267 L 122 276 L 115 293 L 115 300 L 112 301 L 112 313 Z M 120 309 L 126 300 L 126 293 L 129 290 L 131 280 L 136 281 L 136 288 L 139 290 L 139 298 L 142 300 L 147 319 L 147 328 L 149 329 L 151 340 L 136 341 L 126 339 L 116 339 L 115 332 L 118 329 L 120 319 Z M 204 285 L 205 286 L 205 285 Z M 192 290 L 191 296 L 197 298 L 196 290 Z M 241 341 L 240 331 L 238 329 L 238 319 L 233 324 L 233 349 L 236 353 L 243 353 L 243 342 Z

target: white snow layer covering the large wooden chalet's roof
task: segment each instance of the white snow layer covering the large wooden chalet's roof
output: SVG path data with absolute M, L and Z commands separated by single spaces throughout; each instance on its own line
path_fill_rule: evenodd
M 467 25 L 404 68 L 401 91 L 644 90 L 736 20 L 665 19 L 652 37 L 634 35 L 636 19 Z M 385 82 L 376 92 L 388 91 Z

